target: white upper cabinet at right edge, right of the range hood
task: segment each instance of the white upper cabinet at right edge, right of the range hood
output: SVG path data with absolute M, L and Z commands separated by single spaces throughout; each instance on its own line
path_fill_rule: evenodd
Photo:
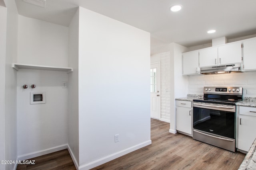
M 256 38 L 248 39 L 243 42 L 243 70 L 256 70 Z

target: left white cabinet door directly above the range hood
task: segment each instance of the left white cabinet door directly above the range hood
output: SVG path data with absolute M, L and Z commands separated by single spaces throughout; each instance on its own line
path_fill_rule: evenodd
M 199 66 L 215 66 L 218 65 L 218 48 L 211 47 L 199 50 Z

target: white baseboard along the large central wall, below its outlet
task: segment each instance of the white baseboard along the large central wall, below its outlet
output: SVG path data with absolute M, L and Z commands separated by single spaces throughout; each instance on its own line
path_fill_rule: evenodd
M 110 154 L 108 156 L 105 156 L 104 158 L 100 158 L 100 159 L 95 160 L 93 162 L 90 162 L 88 164 L 81 165 L 81 166 L 79 166 L 78 169 L 79 170 L 89 170 L 89 169 L 92 169 L 92 168 L 94 168 L 96 166 L 99 166 L 99 165 L 102 165 L 102 164 L 104 164 L 106 162 L 109 162 L 110 160 L 114 160 L 114 159 L 116 159 L 116 158 L 118 158 L 120 156 L 123 156 L 125 154 L 130 153 L 130 152 L 133 152 L 134 150 L 138 150 L 138 149 L 140 149 L 142 147 L 146 147 L 147 145 L 150 145 L 151 143 L 152 143 L 152 141 L 148 140 L 148 141 L 146 141 L 144 143 L 140 143 L 138 145 L 135 145 L 135 146 L 132 146 L 130 148 L 121 150 L 121 151 L 116 152 L 114 154 Z

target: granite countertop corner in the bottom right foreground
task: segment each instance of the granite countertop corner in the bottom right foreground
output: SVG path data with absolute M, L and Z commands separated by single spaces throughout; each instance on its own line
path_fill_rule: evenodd
M 238 170 L 255 170 L 255 167 L 256 167 L 256 139 L 252 143 L 252 146 L 247 152 Z

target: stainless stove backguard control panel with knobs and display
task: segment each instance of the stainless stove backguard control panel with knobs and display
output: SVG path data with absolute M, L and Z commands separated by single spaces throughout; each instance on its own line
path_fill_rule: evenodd
M 204 94 L 243 94 L 242 87 L 204 87 Z

